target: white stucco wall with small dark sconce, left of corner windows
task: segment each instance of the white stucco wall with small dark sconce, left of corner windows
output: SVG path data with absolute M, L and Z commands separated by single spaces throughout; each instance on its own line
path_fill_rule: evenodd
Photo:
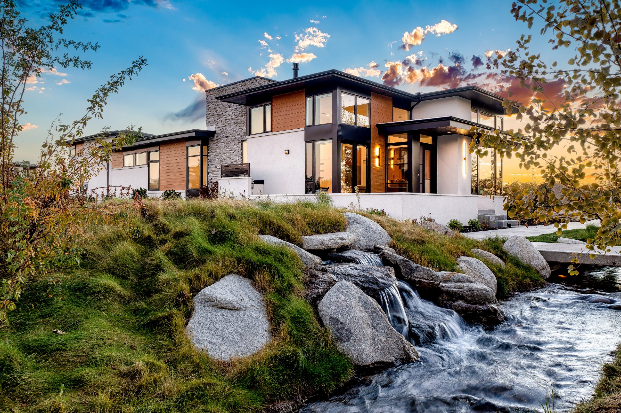
M 304 193 L 304 129 L 247 136 L 250 175 L 263 193 Z M 289 154 L 284 151 L 289 149 Z

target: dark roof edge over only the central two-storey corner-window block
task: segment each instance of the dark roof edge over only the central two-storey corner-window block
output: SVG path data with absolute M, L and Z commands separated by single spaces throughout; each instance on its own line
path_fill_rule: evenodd
M 379 84 L 376 82 L 368 81 L 366 79 L 359 78 L 358 76 L 353 76 L 353 74 L 348 74 L 336 69 L 330 69 L 324 72 L 307 74 L 306 76 L 300 76 L 299 78 L 287 79 L 284 81 L 276 82 L 274 84 L 268 84 L 264 86 L 252 87 L 251 89 L 246 89 L 245 91 L 238 91 L 229 94 L 224 94 L 218 96 L 216 99 L 222 100 L 224 102 L 229 102 L 238 105 L 245 105 L 245 103 L 241 102 L 242 98 L 257 92 L 268 92 L 273 89 L 287 89 L 284 93 L 294 91 L 294 88 L 297 84 L 302 84 L 307 81 L 317 81 L 324 79 L 329 80 L 330 78 L 342 79 L 347 81 L 353 81 L 362 86 L 371 87 L 373 92 L 377 92 L 380 94 L 393 94 L 398 95 L 399 97 L 405 97 L 406 99 L 416 99 L 417 95 L 411 94 L 409 92 L 400 91 L 399 89 L 395 89 L 394 87 L 384 86 L 383 84 Z M 374 89 L 374 90 L 373 90 Z

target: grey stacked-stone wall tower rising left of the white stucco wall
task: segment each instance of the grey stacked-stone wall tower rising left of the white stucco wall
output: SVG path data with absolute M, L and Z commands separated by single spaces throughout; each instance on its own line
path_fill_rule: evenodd
M 209 138 L 208 179 L 220 177 L 222 164 L 242 162 L 242 140 L 246 137 L 246 107 L 220 102 L 216 97 L 270 83 L 270 79 L 255 76 L 206 91 L 206 125 L 215 127 L 214 137 Z

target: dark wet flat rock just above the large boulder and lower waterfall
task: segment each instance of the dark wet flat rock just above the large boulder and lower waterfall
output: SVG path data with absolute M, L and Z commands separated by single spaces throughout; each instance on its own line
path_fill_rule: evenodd
M 396 286 L 397 278 L 391 267 L 362 264 L 331 264 L 325 269 L 338 281 L 347 281 L 360 288 L 366 295 L 379 298 L 379 291 Z

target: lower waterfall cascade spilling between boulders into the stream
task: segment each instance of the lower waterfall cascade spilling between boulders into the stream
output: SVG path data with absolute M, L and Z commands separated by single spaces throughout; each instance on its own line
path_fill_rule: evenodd
M 409 324 L 409 335 L 404 336 L 409 338 L 412 344 L 421 345 L 442 339 L 453 339 L 463 334 L 466 324 L 455 311 L 422 300 L 417 291 L 412 290 L 408 283 L 401 280 L 399 291 Z

